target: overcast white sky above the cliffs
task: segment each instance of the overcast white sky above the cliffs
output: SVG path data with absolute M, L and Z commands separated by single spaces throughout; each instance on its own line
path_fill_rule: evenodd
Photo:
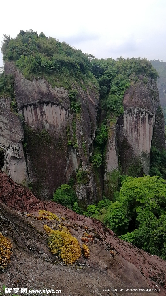
M 8 0 L 0 9 L 0 41 L 32 29 L 97 58 L 166 61 L 165 0 Z

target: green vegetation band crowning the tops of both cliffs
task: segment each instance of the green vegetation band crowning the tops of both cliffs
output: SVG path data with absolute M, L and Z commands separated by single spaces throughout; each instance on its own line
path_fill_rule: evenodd
M 102 97 L 109 93 L 111 84 L 110 94 L 121 96 L 121 89 L 125 91 L 129 83 L 127 77 L 132 73 L 143 74 L 155 80 L 158 77 L 157 71 L 147 59 L 95 59 L 65 42 L 48 38 L 43 32 L 38 35 L 32 30 L 21 30 L 14 39 L 4 35 L 1 50 L 4 61 L 14 61 L 28 79 L 44 76 L 53 87 L 63 86 L 66 89 L 71 88 L 71 82 L 82 86 L 83 81 L 97 87 L 99 83 Z M 122 76 L 115 79 L 117 75 Z

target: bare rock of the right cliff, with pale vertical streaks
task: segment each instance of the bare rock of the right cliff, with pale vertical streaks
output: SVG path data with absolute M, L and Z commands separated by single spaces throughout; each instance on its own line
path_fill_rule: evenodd
M 139 76 L 123 98 L 124 114 L 110 123 L 107 144 L 105 191 L 111 196 L 119 173 L 139 177 L 149 173 L 152 136 L 157 147 L 165 148 L 164 116 L 160 107 L 157 83 Z

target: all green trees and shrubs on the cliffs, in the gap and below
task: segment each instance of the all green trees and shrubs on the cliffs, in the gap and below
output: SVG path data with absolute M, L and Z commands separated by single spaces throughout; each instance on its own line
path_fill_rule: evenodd
M 105 165 L 109 125 L 116 123 L 117 117 L 124 112 L 122 102 L 126 89 L 139 81 L 139 75 L 144 76 L 145 85 L 148 78 L 157 81 L 159 77 L 147 59 L 96 59 L 92 54 L 83 54 L 69 44 L 32 30 L 20 31 L 15 39 L 4 35 L 2 53 L 4 61 L 13 61 L 25 78 L 44 77 L 53 87 L 67 89 L 71 112 L 81 112 L 77 102 L 78 86 L 86 90 L 87 85 L 95 85 L 100 91 L 94 150 L 90 157 L 94 169 Z M 17 114 L 12 75 L 3 73 L 0 76 L 0 96 L 11 98 L 11 109 Z M 77 143 L 74 148 L 77 149 Z M 84 211 L 85 215 L 105 223 L 121 239 L 163 259 L 166 259 L 165 163 L 165 151 L 153 146 L 150 176 L 120 176 L 119 191 L 114 192 L 113 200 L 106 199 L 103 194 L 97 205 L 89 205 Z M 86 172 L 78 171 L 76 180 L 78 184 L 80 180 L 86 182 Z M 82 214 L 74 183 L 72 178 L 69 184 L 62 184 L 53 194 L 53 200 Z

